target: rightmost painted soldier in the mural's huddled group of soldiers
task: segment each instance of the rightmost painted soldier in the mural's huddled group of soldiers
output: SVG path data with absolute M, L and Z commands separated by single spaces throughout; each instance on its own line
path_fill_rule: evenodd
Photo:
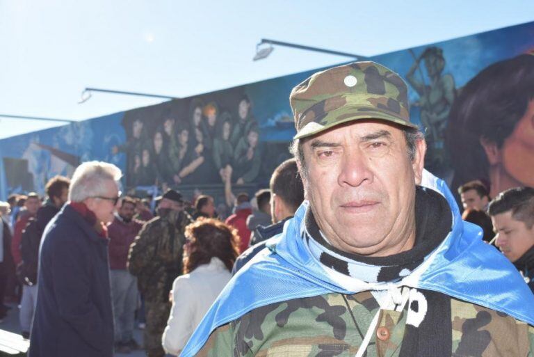
M 237 184 L 252 182 L 256 179 L 261 166 L 259 152 L 259 130 L 257 126 L 250 127 L 247 135 L 237 143 L 234 150 L 234 177 Z

